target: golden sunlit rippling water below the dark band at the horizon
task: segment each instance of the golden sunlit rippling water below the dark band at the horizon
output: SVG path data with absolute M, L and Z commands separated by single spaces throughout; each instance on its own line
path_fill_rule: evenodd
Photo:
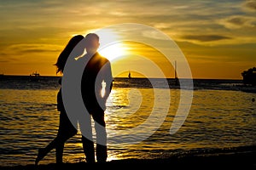
M 129 137 L 125 129 L 136 127 L 148 118 L 154 106 L 154 90 L 113 88 L 106 111 L 108 161 L 162 157 L 174 154 L 175 150 L 256 144 L 256 104 L 252 102 L 255 94 L 196 90 L 183 127 L 171 135 L 169 129 L 179 105 L 180 92 L 178 89 L 165 90 L 171 92 L 171 104 L 165 122 L 157 131 L 138 144 L 116 144 L 117 131 L 123 129 L 119 131 L 124 132 L 122 137 Z M 31 164 L 37 149 L 55 138 L 59 120 L 55 105 L 56 94 L 55 89 L 0 89 L 2 164 Z M 158 113 L 161 113 L 161 108 L 158 109 Z M 80 132 L 67 141 L 64 160 L 84 161 Z M 42 161 L 43 164 L 49 162 L 55 162 L 55 151 L 50 152 Z

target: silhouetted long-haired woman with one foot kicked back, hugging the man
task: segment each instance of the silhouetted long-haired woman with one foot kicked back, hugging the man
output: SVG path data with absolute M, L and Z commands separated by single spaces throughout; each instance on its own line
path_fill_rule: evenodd
M 77 35 L 69 40 L 67 46 L 63 49 L 57 59 L 57 62 L 55 63 L 55 66 L 57 67 L 56 73 L 60 72 L 63 74 L 64 66 L 67 62 L 68 56 L 72 53 L 73 48 L 75 48 L 76 45 L 83 39 L 84 37 L 82 35 Z M 76 55 L 79 56 L 84 53 L 84 48 L 76 50 L 76 52 L 78 52 Z M 59 80 L 59 83 L 61 84 L 61 79 Z M 67 139 L 70 139 L 78 133 L 77 128 L 73 127 L 72 122 L 70 122 L 68 119 L 67 112 L 65 111 L 64 105 L 62 103 L 61 88 L 57 94 L 57 109 L 60 111 L 60 121 L 57 136 L 45 148 L 40 148 L 38 150 L 38 157 L 35 161 L 36 165 L 38 165 L 38 162 L 41 161 L 44 156 L 46 156 L 49 151 L 53 149 L 55 149 L 56 163 L 62 163 L 65 142 Z

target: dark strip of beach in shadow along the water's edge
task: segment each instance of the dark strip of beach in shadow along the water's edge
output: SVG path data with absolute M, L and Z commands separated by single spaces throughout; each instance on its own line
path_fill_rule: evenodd
M 154 158 L 154 159 L 121 159 L 112 160 L 104 163 L 63 163 L 63 164 L 42 164 L 42 165 L 24 165 L 24 166 L 9 166 L 1 167 L 2 170 L 50 170 L 50 169 L 83 169 L 86 167 L 136 167 L 139 166 L 151 166 L 151 165 L 168 165 L 170 167 L 189 167 L 197 169 L 207 168 L 242 168 L 242 169 L 256 169 L 256 150 L 248 152 L 237 152 L 237 153 L 222 153 L 215 155 L 188 155 L 188 156 L 171 156 L 169 158 Z

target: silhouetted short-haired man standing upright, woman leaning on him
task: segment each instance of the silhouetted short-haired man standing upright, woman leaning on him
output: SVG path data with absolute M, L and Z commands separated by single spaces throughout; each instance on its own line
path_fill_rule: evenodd
M 107 161 L 107 132 L 104 120 L 106 101 L 112 89 L 112 71 L 108 59 L 98 54 L 99 37 L 89 33 L 85 37 L 85 58 L 89 59 L 84 68 L 81 81 L 81 94 L 84 105 L 95 122 L 96 130 L 96 161 Z M 88 117 L 88 116 L 87 116 Z M 90 119 L 88 117 L 88 119 Z M 86 120 L 86 129 L 81 128 L 84 155 L 87 162 L 95 162 L 95 148 L 92 139 L 91 121 Z

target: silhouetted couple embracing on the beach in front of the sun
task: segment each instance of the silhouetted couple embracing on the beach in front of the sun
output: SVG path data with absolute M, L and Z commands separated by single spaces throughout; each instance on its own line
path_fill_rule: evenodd
M 82 41 L 83 40 L 83 41 Z M 86 37 L 81 35 L 74 36 L 63 49 L 59 55 L 57 62 L 57 73 L 63 74 L 67 58 L 73 52 L 73 49 L 82 43 L 82 48 L 76 57 L 86 54 L 82 57 L 88 58 L 88 62 L 84 65 L 84 73 L 81 81 L 81 94 L 84 101 L 84 105 L 90 116 L 94 119 L 96 129 L 96 160 L 95 160 L 95 148 L 92 140 L 92 129 L 91 120 L 86 127 L 86 137 L 82 135 L 82 143 L 84 149 L 84 155 L 86 162 L 105 162 L 107 161 L 107 133 L 106 123 L 104 120 L 104 111 L 106 110 L 106 101 L 112 89 L 112 71 L 111 65 L 108 59 L 98 54 L 97 49 L 99 48 L 99 37 L 95 33 L 87 34 Z M 65 76 L 65 75 L 63 75 Z M 59 81 L 61 84 L 61 80 Z M 102 95 L 102 88 L 105 94 Z M 72 122 L 69 120 L 67 112 L 65 110 L 61 88 L 57 94 L 57 109 L 60 111 L 60 121 L 57 136 L 52 140 L 45 148 L 38 150 L 38 157 L 35 161 L 36 165 L 46 156 L 50 150 L 55 149 L 55 160 L 56 163 L 62 163 L 64 144 L 67 139 L 72 138 L 78 133 L 77 127 L 74 127 Z M 73 114 L 73 113 L 69 113 Z M 85 111 L 84 111 L 85 114 Z M 79 122 L 79 120 L 78 120 Z M 80 126 L 81 128 L 81 126 Z M 81 129 L 81 131 L 84 129 Z M 83 134 L 83 133 L 82 133 Z M 98 142 L 101 140 L 101 142 Z

